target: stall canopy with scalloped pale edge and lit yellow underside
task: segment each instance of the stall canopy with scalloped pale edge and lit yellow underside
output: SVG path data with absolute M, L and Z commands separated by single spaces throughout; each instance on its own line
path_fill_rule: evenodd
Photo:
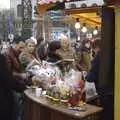
M 71 15 L 73 19 L 79 18 L 80 22 L 86 22 L 86 24 L 92 26 L 100 26 L 101 25 L 101 6 L 104 5 L 103 0 L 50 0 L 49 2 L 45 2 L 46 0 L 38 1 L 39 13 L 43 15 L 48 11 L 56 11 L 52 12 L 52 17 L 56 16 L 54 14 L 59 13 L 58 10 L 63 10 L 64 15 L 61 17 L 64 18 L 65 15 Z M 79 3 L 79 6 L 77 4 Z M 71 8 L 75 5 L 75 8 Z M 86 6 L 82 6 L 82 5 Z M 80 7 L 80 5 L 82 7 Z M 69 6 L 69 7 L 68 7 Z M 70 19 L 66 19 L 65 23 L 69 24 Z

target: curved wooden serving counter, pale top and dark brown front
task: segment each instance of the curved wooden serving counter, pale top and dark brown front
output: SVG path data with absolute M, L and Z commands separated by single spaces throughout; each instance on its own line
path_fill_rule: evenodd
M 52 104 L 45 97 L 36 97 L 31 89 L 25 91 L 25 120 L 99 120 L 101 107 L 86 104 L 77 111 Z

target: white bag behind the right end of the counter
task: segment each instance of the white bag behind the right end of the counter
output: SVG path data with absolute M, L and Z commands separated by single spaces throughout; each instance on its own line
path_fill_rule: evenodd
M 86 100 L 97 96 L 97 91 L 94 82 L 85 81 Z

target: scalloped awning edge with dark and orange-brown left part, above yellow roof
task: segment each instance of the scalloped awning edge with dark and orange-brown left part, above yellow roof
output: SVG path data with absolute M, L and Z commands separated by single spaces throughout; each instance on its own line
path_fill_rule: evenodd
M 40 14 L 48 10 L 79 9 L 104 5 L 103 0 L 38 0 Z

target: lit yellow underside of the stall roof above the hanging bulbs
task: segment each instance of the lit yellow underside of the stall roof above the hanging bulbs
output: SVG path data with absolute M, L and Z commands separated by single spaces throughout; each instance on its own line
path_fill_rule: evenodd
M 66 9 L 65 13 L 74 19 L 79 18 L 81 22 L 85 21 L 89 25 L 101 26 L 101 7 Z

